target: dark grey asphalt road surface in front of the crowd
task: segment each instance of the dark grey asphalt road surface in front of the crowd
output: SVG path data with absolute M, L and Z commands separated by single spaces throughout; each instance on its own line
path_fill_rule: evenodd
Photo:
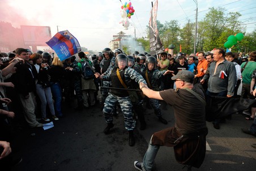
M 133 163 L 142 161 L 152 133 L 174 125 L 172 107 L 162 104 L 161 108 L 168 125 L 160 123 L 153 110 L 145 109 L 147 129 L 140 131 L 137 124 L 136 144 L 130 147 L 121 112 L 114 118 L 111 134 L 105 135 L 106 123 L 99 104 L 82 111 L 63 105 L 65 117 L 54 121 L 52 129 L 22 131 L 19 144 L 23 161 L 12 170 L 136 170 Z M 207 122 L 206 157 L 202 166 L 193 170 L 256 170 L 256 149 L 251 147 L 256 138 L 241 132 L 251 123 L 241 114 L 234 114 L 231 121 L 220 125 L 220 130 Z M 169 147 L 160 147 L 155 163 L 159 171 L 184 167 L 176 162 Z

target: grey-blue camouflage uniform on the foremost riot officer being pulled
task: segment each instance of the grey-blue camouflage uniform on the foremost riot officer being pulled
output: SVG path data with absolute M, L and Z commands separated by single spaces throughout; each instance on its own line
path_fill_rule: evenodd
M 120 80 L 117 78 L 116 71 L 117 68 L 114 67 L 114 69 L 108 72 L 107 75 L 103 76 L 103 79 L 110 80 L 112 86 L 116 86 L 115 88 L 123 88 Z M 135 80 L 137 83 L 143 82 L 146 84 L 146 81 L 143 79 L 142 75 L 131 68 L 126 67 L 124 70 L 120 70 L 120 75 L 127 87 L 130 87 L 131 79 Z M 105 121 L 107 123 L 113 122 L 112 111 L 114 110 L 114 106 L 116 105 L 117 101 L 121 106 L 121 110 L 125 118 L 125 129 L 128 131 L 134 130 L 136 122 L 133 118 L 133 113 L 131 112 L 132 105 L 129 93 L 127 91 L 110 89 L 109 96 L 106 97 L 103 109 Z

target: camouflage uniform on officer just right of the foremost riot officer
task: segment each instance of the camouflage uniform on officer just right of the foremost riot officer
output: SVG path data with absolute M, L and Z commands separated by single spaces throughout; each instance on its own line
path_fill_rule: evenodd
M 142 73 L 143 78 L 146 79 L 146 72 L 148 73 L 148 79 L 150 80 L 150 84 L 148 84 L 148 88 L 153 89 L 154 91 L 159 91 L 160 86 L 160 79 L 163 77 L 165 71 L 159 71 L 158 69 L 153 69 L 151 71 L 146 70 Z M 151 87 L 149 86 L 151 85 Z M 150 104 L 155 111 L 157 117 L 162 116 L 160 107 L 159 107 L 159 100 L 157 99 L 150 99 Z

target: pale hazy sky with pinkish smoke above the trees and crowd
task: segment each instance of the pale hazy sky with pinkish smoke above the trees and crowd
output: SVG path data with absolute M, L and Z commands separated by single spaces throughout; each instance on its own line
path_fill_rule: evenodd
M 59 31 L 69 30 L 81 46 L 89 50 L 101 51 L 108 47 L 113 35 L 123 31 L 134 37 L 146 36 L 146 25 L 150 18 L 151 1 L 130 1 L 134 15 L 129 19 L 128 30 L 120 24 L 122 4 L 120 0 L 0 0 L 0 20 L 12 26 L 50 26 L 52 36 Z M 154 3 L 155 1 L 153 1 Z M 241 22 L 252 32 L 256 24 L 255 0 L 198 0 L 198 20 L 202 20 L 209 7 L 225 7 L 228 12 L 240 12 Z M 195 22 L 195 2 L 193 0 L 159 0 L 157 20 L 161 23 L 178 20 L 183 27 L 187 20 Z

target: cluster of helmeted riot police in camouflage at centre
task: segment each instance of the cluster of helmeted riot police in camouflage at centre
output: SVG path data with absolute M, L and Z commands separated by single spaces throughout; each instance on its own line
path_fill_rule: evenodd
M 97 59 L 99 57 L 103 57 L 103 59 L 100 62 L 99 60 L 96 62 L 95 59 L 93 62 L 96 70 L 95 80 L 103 80 L 100 86 L 104 102 L 103 114 L 107 123 L 104 133 L 111 132 L 114 126 L 113 115 L 116 113 L 117 105 L 120 105 L 125 120 L 125 129 L 129 132 L 129 146 L 135 144 L 133 130 L 136 121 L 132 111 L 138 116 L 140 130 L 146 129 L 142 106 L 146 97 L 140 91 L 139 83 L 159 90 L 158 82 L 165 72 L 156 69 L 155 57 L 146 55 L 138 52 L 135 52 L 133 56 L 125 55 L 121 49 L 116 49 L 113 52 L 110 48 L 105 48 L 102 53 L 96 55 Z M 100 84 L 99 81 L 97 83 Z M 159 101 L 156 99 L 148 99 L 148 101 L 150 101 L 159 121 L 167 124 L 168 122 L 162 117 Z

